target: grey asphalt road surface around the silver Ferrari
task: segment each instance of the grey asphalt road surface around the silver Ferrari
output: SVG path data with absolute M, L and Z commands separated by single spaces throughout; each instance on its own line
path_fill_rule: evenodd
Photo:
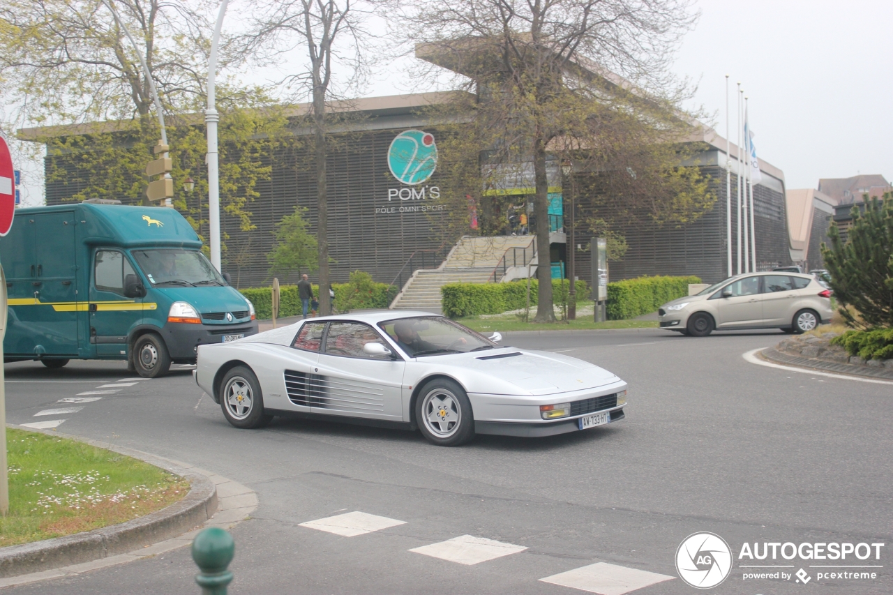
M 620 375 L 630 384 L 627 417 L 547 439 L 481 436 L 463 448 L 338 423 L 277 419 L 240 431 L 202 395 L 189 368 L 117 382 L 133 376 L 114 363 L 75 362 L 58 371 L 6 365 L 7 419 L 65 419 L 59 432 L 188 461 L 256 490 L 260 507 L 233 531 L 230 593 L 570 595 L 583 591 L 539 579 L 606 563 L 613 566 L 600 567 L 604 572 L 632 582 L 672 577 L 636 595 L 690 595 L 697 590 L 680 580 L 674 559 L 694 532 L 722 536 L 736 558 L 744 542 L 886 544 L 880 561 L 847 558 L 884 566 L 871 569 L 879 574 L 873 581 L 744 580 L 752 569 L 735 559 L 716 593 L 893 592 L 893 384 L 772 369 L 742 357 L 782 337 L 509 335 L 508 344 L 562 351 Z M 88 395 L 101 397 L 89 403 L 57 402 L 103 390 L 114 392 Z M 68 406 L 83 409 L 35 416 Z M 300 525 L 353 511 L 404 523 L 354 537 Z M 409 551 L 463 535 L 526 549 L 472 566 Z M 781 569 L 788 573 L 819 571 L 796 559 L 775 564 L 797 565 Z M 630 569 L 663 576 L 624 574 Z M 188 549 L 179 549 L 8 592 L 197 593 L 195 573 Z

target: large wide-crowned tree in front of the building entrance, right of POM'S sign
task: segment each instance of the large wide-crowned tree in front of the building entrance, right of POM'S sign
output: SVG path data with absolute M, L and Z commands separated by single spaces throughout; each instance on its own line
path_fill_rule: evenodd
M 397 10 L 399 37 L 418 44 L 416 55 L 475 92 L 477 103 L 464 107 L 488 130 L 485 164 L 530 163 L 540 247 L 535 322 L 554 321 L 547 162 L 610 153 L 612 128 L 603 124 L 624 115 L 648 142 L 678 131 L 667 117 L 680 99 L 668 65 L 695 20 L 689 1 L 422 0 Z M 682 113 L 674 118 L 688 123 Z

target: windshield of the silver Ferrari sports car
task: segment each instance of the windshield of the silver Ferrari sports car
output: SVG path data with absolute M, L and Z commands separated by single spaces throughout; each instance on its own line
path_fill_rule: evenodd
M 417 316 L 379 323 L 407 356 L 442 356 L 499 347 L 478 332 L 443 316 Z

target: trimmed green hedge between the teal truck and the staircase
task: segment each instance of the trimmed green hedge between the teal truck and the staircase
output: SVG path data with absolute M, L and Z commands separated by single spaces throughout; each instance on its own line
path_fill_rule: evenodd
M 368 294 L 359 296 L 357 288 L 351 283 L 332 283 L 335 291 L 336 312 L 346 312 L 348 309 L 360 308 L 386 308 L 394 301 L 397 289 L 386 283 L 371 283 L 371 288 L 364 288 Z M 271 287 L 257 287 L 239 289 L 241 294 L 255 305 L 258 318 L 270 319 L 273 317 Z M 313 284 L 313 295 L 319 298 L 320 288 Z M 345 306 L 343 309 L 340 306 Z M 296 316 L 301 314 L 301 299 L 297 297 L 296 285 L 280 285 L 280 311 L 279 318 Z

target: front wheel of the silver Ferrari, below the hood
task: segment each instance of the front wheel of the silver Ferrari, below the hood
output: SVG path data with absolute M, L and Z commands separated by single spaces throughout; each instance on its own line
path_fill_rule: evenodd
M 421 387 L 415 421 L 425 440 L 437 446 L 459 446 L 474 438 L 472 402 L 457 382 L 446 378 Z

